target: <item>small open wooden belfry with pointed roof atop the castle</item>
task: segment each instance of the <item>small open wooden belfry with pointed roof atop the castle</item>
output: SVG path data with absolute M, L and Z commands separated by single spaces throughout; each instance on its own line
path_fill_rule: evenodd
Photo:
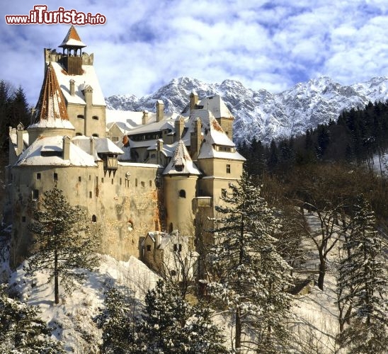
M 59 47 L 63 48 L 62 64 L 69 75 L 82 74 L 82 48 L 86 45 L 79 38 L 74 25 L 70 27 L 69 32 Z

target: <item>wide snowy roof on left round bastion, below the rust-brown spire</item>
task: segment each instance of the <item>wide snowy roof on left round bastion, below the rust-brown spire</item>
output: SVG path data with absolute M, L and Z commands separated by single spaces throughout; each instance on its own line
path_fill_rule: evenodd
M 97 166 L 93 156 L 70 142 L 69 160 L 63 159 L 63 136 L 38 137 L 28 149 L 19 156 L 16 166 Z M 43 152 L 43 156 L 42 156 Z M 57 152 L 55 156 L 47 154 Z M 45 154 L 46 153 L 46 154 Z

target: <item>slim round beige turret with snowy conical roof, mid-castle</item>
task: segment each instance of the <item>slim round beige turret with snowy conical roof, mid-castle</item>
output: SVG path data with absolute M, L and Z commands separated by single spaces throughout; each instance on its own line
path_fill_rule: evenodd
M 170 163 L 164 169 L 164 202 L 167 231 L 178 229 L 189 235 L 193 231 L 193 199 L 201 172 L 193 163 L 185 144 L 179 140 Z

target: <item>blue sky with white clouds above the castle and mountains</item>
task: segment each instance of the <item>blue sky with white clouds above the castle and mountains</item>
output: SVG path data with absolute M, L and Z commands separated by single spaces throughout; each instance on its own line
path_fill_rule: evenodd
M 6 25 L 40 2 L 1 4 L 0 79 L 23 86 L 35 105 L 43 48 L 69 25 Z M 178 76 L 237 79 L 275 93 L 317 76 L 341 84 L 388 76 L 386 0 L 62 0 L 49 11 L 101 13 L 105 25 L 76 27 L 105 96 L 144 96 Z

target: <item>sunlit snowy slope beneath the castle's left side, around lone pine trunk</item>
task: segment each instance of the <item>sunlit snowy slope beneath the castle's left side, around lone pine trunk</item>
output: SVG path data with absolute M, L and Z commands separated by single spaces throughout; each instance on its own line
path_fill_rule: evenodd
M 54 287 L 47 283 L 46 273 L 25 275 L 23 265 L 11 274 L 10 285 L 20 292 L 21 299 L 40 307 L 42 319 L 54 329 L 53 336 L 64 341 L 72 353 L 99 353 L 101 331 L 93 319 L 103 305 L 105 290 L 112 285 L 125 285 L 132 295 L 144 299 L 149 288 L 156 284 L 157 276 L 141 261 L 131 257 L 127 262 L 101 256 L 97 272 L 87 273 L 86 281 L 72 294 L 61 294 L 61 302 L 54 302 Z

